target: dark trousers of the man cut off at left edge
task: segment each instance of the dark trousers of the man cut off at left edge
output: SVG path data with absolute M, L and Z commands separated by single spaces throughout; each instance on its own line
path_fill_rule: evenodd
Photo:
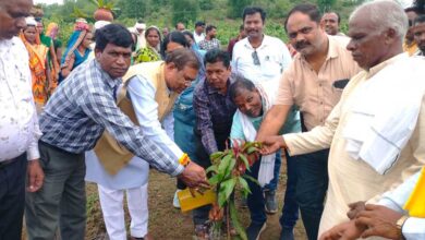
M 0 240 L 21 240 L 26 166 L 26 154 L 0 166 Z

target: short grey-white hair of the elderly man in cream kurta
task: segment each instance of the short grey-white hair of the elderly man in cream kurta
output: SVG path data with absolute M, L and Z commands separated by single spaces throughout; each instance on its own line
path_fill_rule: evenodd
M 403 8 L 398 2 L 391 0 L 365 2 L 351 13 L 349 21 L 351 22 L 363 11 L 368 13 L 369 21 L 377 31 L 392 28 L 401 41 L 403 41 L 409 28 L 409 20 Z

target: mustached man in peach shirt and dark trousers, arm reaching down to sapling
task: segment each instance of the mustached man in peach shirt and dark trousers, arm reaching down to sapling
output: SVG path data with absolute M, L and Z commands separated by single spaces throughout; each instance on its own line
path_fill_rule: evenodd
M 328 36 L 320 27 L 316 5 L 299 4 L 288 14 L 284 28 L 299 52 L 283 72 L 275 106 L 268 111 L 257 140 L 275 135 L 293 105 L 302 113 L 303 131 L 325 124 L 342 89 L 360 69 L 345 49 L 349 38 Z M 298 156 L 296 201 L 308 239 L 317 239 L 328 188 L 329 149 Z

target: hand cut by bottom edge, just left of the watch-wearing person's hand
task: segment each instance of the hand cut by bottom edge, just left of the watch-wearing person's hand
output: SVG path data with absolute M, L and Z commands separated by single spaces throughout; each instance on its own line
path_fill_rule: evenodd
M 351 240 L 357 239 L 365 228 L 356 226 L 354 220 L 345 221 L 325 231 L 319 240 Z

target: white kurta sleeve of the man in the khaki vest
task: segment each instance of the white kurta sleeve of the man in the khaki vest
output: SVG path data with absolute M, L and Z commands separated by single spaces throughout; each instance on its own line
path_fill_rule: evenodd
M 158 120 L 158 104 L 155 101 L 156 88 L 150 81 L 141 75 L 129 81 L 127 92 L 142 132 L 162 151 L 174 155 L 175 159 L 180 158 L 183 152 L 168 136 Z

